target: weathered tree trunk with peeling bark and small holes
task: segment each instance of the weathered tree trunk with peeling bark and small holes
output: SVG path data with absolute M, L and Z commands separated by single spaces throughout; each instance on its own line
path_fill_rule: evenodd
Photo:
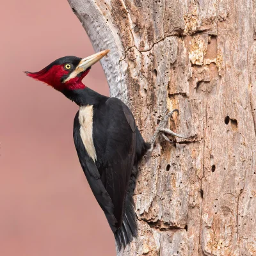
M 68 0 L 102 60 L 111 96 L 150 140 L 140 164 L 139 236 L 120 255 L 256 255 L 256 4 L 249 0 Z M 228 116 L 228 118 L 227 118 Z

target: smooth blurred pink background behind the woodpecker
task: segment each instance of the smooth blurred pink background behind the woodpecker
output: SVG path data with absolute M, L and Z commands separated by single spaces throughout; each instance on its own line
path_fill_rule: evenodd
M 115 255 L 77 159 L 77 106 L 26 77 L 56 58 L 93 54 L 68 2 L 5 1 L 0 40 L 0 255 Z M 84 83 L 108 95 L 100 64 Z

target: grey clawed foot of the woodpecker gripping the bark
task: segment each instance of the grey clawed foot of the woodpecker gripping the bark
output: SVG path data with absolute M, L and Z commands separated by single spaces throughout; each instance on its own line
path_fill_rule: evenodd
M 158 136 L 158 134 L 161 134 L 164 138 L 164 140 L 170 142 L 170 143 L 173 143 L 172 140 L 170 140 L 166 134 L 169 134 L 169 135 L 172 135 L 172 136 L 175 136 L 175 137 L 179 137 L 179 138 L 182 138 L 182 139 L 187 139 L 186 136 L 184 135 L 180 135 L 180 134 L 177 134 L 176 132 L 173 132 L 172 130 L 170 129 L 167 129 L 167 128 L 164 128 L 166 126 L 166 124 L 168 123 L 168 119 L 170 117 L 172 117 L 173 113 L 174 112 L 177 112 L 179 114 L 179 110 L 178 109 L 173 109 L 172 111 L 170 111 L 166 116 L 164 116 L 163 120 L 161 120 L 161 122 L 159 123 L 157 129 L 156 129 L 156 132 L 154 133 L 153 137 L 152 137 L 152 140 L 151 140 L 151 148 L 149 151 L 152 151 L 153 150 L 153 147 L 154 147 L 154 143 L 156 141 L 156 138 Z

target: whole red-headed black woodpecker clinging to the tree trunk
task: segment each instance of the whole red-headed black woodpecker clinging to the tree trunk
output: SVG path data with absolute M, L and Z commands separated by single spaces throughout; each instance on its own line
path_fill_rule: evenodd
M 131 110 L 114 97 L 106 97 L 82 83 L 93 64 L 108 54 L 101 51 L 87 58 L 66 56 L 38 72 L 26 75 L 63 93 L 79 106 L 74 118 L 74 143 L 93 195 L 104 211 L 118 250 L 137 236 L 132 199 L 138 162 L 152 150 L 157 134 L 186 138 L 164 128 L 173 111 L 159 124 L 150 143 L 143 140 Z

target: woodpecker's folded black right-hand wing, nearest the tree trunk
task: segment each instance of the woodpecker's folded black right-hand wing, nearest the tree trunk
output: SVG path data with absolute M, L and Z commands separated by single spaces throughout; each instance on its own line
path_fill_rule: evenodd
M 106 141 L 106 190 L 114 204 L 116 228 L 120 228 L 125 212 L 125 196 L 129 188 L 136 150 L 136 124 L 130 109 L 119 99 L 106 101 L 109 115 Z

